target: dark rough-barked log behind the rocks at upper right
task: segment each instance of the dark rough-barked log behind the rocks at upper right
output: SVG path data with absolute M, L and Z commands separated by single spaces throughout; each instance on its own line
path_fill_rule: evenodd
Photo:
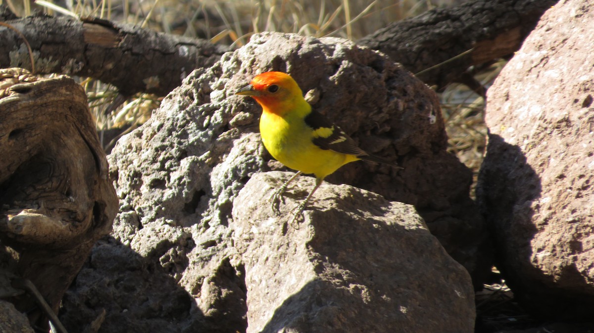
M 417 76 L 426 84 L 444 87 L 463 81 L 470 66 L 516 52 L 557 1 L 477 0 L 433 9 L 380 29 L 358 44 L 386 53 L 413 73 L 435 66 Z

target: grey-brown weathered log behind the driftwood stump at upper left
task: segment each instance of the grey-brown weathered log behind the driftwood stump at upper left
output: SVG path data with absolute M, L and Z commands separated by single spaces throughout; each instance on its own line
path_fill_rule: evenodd
M 88 76 L 115 85 L 122 95 L 164 96 L 192 70 L 211 66 L 228 50 L 206 40 L 99 19 L 43 15 L 5 23 L 31 44 L 37 74 Z M 0 67 L 31 69 L 27 48 L 15 31 L 0 26 L 0 50 L 7 50 L 0 52 Z

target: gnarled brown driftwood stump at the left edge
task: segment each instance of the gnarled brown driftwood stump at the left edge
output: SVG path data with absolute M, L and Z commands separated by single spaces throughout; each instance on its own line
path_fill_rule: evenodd
M 66 76 L 0 70 L 0 119 L 0 270 L 31 281 L 56 311 L 118 209 L 105 153 L 83 89 Z M 32 297 L 8 300 L 46 325 Z

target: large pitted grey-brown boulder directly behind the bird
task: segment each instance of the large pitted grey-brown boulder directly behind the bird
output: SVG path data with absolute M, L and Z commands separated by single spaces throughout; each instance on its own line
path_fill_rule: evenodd
M 362 148 L 405 167 L 356 162 L 329 181 L 413 204 L 445 249 L 479 271 L 485 238 L 468 197 L 470 172 L 445 152 L 434 93 L 351 41 L 264 33 L 194 71 L 119 140 L 109 156 L 121 205 L 113 238 L 94 248 L 65 297 L 67 327 L 103 318 L 100 332 L 245 331 L 249 295 L 232 209 L 252 175 L 282 166 L 261 145 L 259 107 L 233 93 L 270 70 L 293 75 Z

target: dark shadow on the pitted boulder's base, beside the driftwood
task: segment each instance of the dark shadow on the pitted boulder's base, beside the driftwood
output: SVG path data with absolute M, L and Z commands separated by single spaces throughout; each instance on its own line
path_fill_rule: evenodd
M 194 297 L 158 262 L 112 237 L 93 248 L 63 309 L 60 318 L 71 332 L 235 332 L 245 331 L 246 325 L 207 321 Z

